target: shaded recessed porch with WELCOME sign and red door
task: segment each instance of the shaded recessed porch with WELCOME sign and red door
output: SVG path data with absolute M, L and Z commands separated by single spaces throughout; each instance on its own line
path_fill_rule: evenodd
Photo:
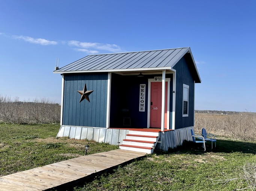
M 112 73 L 106 127 L 175 129 L 174 78 L 172 71 Z

